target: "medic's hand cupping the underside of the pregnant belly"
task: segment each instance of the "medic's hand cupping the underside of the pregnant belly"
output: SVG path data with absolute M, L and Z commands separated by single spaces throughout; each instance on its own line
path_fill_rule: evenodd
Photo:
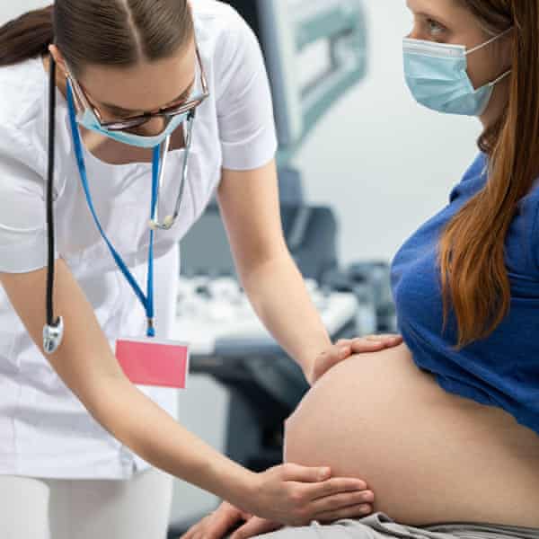
M 374 493 L 359 479 L 331 477 L 330 468 L 281 464 L 255 474 L 243 510 L 287 526 L 333 522 L 372 513 Z

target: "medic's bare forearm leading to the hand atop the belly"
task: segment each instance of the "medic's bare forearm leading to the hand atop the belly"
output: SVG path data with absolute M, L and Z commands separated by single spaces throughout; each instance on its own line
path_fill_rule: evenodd
M 290 255 L 245 271 L 242 282 L 262 323 L 308 375 L 331 340 Z

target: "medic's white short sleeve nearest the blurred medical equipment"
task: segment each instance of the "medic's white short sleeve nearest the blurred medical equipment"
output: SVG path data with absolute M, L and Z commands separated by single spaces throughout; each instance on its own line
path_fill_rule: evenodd
M 234 12 L 216 57 L 216 105 L 223 167 L 252 170 L 277 152 L 270 83 L 253 31 Z

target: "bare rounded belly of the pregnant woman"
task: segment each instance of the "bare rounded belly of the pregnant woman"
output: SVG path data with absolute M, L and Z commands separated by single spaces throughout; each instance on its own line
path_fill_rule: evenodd
M 285 460 L 365 480 L 402 524 L 539 527 L 539 437 L 446 393 L 405 345 L 323 376 L 287 420 Z

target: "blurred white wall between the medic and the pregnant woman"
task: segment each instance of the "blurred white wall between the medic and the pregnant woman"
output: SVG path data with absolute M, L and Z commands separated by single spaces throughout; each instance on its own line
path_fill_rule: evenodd
M 417 105 L 402 74 L 404 0 L 364 0 L 371 47 L 367 79 L 331 110 L 296 158 L 307 198 L 340 218 L 344 262 L 393 257 L 446 204 L 477 149 L 476 119 Z

